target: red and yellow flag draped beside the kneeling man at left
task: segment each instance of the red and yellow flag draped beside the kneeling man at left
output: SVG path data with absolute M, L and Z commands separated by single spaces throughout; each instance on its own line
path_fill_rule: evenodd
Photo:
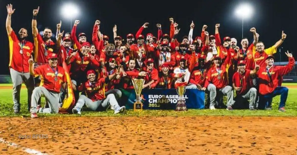
M 65 98 L 63 100 L 63 105 L 59 109 L 59 113 L 71 113 L 72 108 L 75 106 L 75 98 L 74 98 L 74 93 L 73 93 L 73 89 L 72 89 L 72 85 L 71 85 L 71 79 L 69 76 L 68 67 L 65 63 L 65 57 L 63 54 L 64 51 L 62 50 L 61 52 L 62 52 L 61 56 L 62 56 L 62 60 L 63 60 L 62 66 L 65 71 L 65 76 L 67 79 L 67 81 L 66 81 L 66 94 L 67 95 L 65 95 Z

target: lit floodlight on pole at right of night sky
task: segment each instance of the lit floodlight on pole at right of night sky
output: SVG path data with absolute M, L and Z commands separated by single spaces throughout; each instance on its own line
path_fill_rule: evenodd
M 243 38 L 243 20 L 251 17 L 252 13 L 253 8 L 249 4 L 241 4 L 235 10 L 236 16 L 242 19 L 241 38 Z

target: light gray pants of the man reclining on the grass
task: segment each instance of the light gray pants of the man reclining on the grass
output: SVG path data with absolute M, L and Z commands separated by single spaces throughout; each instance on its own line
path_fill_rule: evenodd
M 86 97 L 86 95 L 80 95 L 76 103 L 76 106 L 74 108 L 81 109 L 85 104 L 86 104 L 86 107 L 91 111 L 96 111 L 100 105 L 103 108 L 107 108 L 109 105 L 111 105 L 113 109 L 116 109 L 117 107 L 119 107 L 119 104 L 116 101 L 116 97 L 113 94 L 108 94 L 105 99 L 97 100 L 97 101 L 92 101 L 91 99 Z

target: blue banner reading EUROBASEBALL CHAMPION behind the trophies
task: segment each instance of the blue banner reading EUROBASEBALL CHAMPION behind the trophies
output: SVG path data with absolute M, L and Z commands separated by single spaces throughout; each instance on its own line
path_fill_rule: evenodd
M 136 100 L 134 89 L 121 89 L 121 103 L 127 109 L 133 109 Z M 178 94 L 176 89 L 145 89 L 141 92 L 143 109 L 172 110 L 175 109 Z M 195 89 L 187 89 L 184 94 L 187 108 L 204 109 L 205 92 Z

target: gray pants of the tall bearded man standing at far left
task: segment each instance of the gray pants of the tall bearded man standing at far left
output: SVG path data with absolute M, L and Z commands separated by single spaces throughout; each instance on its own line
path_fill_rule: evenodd
M 12 79 L 12 100 L 13 109 L 20 110 L 20 89 L 22 87 L 22 82 L 25 83 L 28 92 L 28 110 L 31 107 L 31 95 L 34 89 L 34 79 L 30 73 L 18 72 L 10 68 L 10 76 Z

